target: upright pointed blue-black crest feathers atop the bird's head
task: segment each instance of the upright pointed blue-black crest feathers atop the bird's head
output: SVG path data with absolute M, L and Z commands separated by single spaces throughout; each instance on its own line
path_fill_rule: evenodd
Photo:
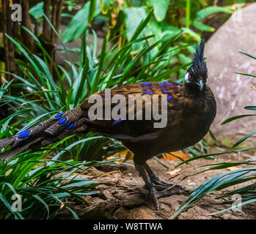
M 200 77 L 200 78 L 207 78 L 208 70 L 205 64 L 204 59 L 204 50 L 205 50 L 205 39 L 201 39 L 200 45 L 197 45 L 196 53 L 194 53 L 194 59 L 193 59 L 193 73 L 194 76 Z

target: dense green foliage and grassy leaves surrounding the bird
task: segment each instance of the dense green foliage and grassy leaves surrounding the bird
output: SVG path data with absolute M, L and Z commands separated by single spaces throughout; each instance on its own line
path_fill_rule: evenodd
M 190 0 L 57 0 L 51 6 L 49 1 L 33 1 L 32 5 L 25 2 L 28 3 L 23 1 L 22 6 L 27 14 L 22 23 L 9 22 L 10 31 L 0 26 L 4 33 L 3 39 L 0 37 L 0 54 L 4 49 L 8 51 L 8 56 L 0 58 L 0 107 L 9 111 L 0 120 L 0 139 L 59 111 L 70 110 L 104 88 L 142 80 L 183 81 L 202 31 L 214 31 L 205 21 L 218 13 L 227 18 L 236 10 L 233 1 L 225 1 L 226 7 L 213 6 L 213 1 Z M 0 0 L 1 15 L 8 3 Z M 56 10 L 57 4 L 60 10 Z M 7 14 L 3 25 L 8 24 Z M 69 22 L 65 31 L 59 31 L 61 20 Z M 102 43 L 99 25 L 104 34 Z M 68 48 L 67 43 L 74 40 L 81 41 L 81 48 Z M 56 49 L 68 58 L 65 66 L 56 64 Z M 76 54 L 75 61 L 70 59 L 70 53 Z M 112 162 L 102 159 L 120 148 L 115 140 L 88 133 L 1 162 L 0 219 L 51 219 L 65 209 L 77 219 L 64 197 L 84 203 L 83 196 L 95 194 L 98 185 L 97 181 L 79 178 L 77 173 L 86 174 L 89 167 Z M 189 148 L 189 152 L 195 156 L 189 160 L 214 155 L 201 155 L 207 152 L 204 140 Z M 230 164 L 214 165 L 211 170 Z M 248 172 L 227 173 L 205 182 L 178 213 L 208 192 L 254 178 L 253 174 L 246 176 Z M 219 181 L 218 186 L 215 181 Z M 214 186 L 208 186 L 209 183 Z M 254 188 L 244 187 L 235 192 L 248 197 L 247 193 L 251 195 Z M 12 210 L 14 194 L 22 195 L 21 212 Z

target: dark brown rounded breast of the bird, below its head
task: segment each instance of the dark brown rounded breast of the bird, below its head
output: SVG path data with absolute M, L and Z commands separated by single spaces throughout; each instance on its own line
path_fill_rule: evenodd
M 193 146 L 208 133 L 216 116 L 216 102 L 213 96 L 186 98 L 180 110 L 169 110 L 169 116 L 167 128 L 161 135 L 164 138 L 159 139 L 161 148 L 173 151 Z

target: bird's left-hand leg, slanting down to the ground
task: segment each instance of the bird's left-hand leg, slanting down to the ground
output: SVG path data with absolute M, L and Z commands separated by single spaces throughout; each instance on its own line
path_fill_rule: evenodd
M 143 165 L 139 165 L 136 162 L 134 162 L 134 166 L 139 171 L 139 176 L 142 176 L 146 188 L 150 191 L 150 195 L 153 197 L 153 200 L 156 204 L 156 209 L 159 210 L 160 206 L 158 203 L 158 192 L 156 188 L 153 186 L 153 183 L 150 181 L 150 178 L 147 176 L 147 173 L 145 172 Z

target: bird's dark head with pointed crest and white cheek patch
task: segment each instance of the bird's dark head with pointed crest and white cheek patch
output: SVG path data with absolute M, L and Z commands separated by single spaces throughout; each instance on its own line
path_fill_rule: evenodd
M 201 39 L 201 43 L 197 46 L 194 53 L 193 64 L 189 67 L 185 75 L 186 86 L 202 91 L 208 78 L 208 70 L 203 57 L 205 48 L 205 39 Z

